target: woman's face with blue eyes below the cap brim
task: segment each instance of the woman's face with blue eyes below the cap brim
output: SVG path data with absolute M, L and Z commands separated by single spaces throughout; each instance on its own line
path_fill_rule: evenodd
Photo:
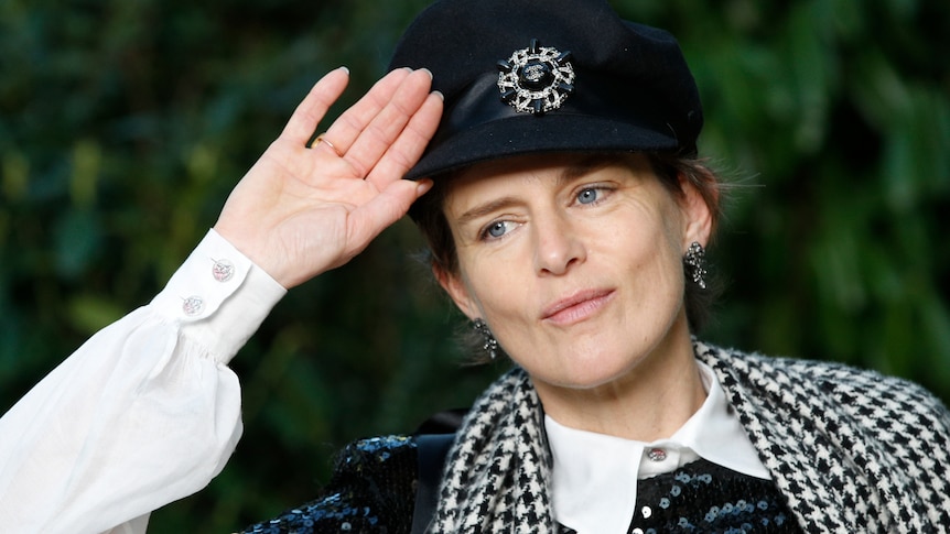
M 475 165 L 444 211 L 460 269 L 440 282 L 536 383 L 596 388 L 689 344 L 682 255 L 706 242 L 709 210 L 691 187 L 670 193 L 645 156 Z

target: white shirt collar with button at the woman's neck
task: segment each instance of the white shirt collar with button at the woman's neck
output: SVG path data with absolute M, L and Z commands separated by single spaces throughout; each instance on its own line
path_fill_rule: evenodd
M 580 534 L 626 533 L 636 509 L 637 480 L 673 471 L 698 458 L 743 475 L 770 478 L 715 373 L 697 363 L 706 399 L 668 439 L 623 439 L 568 428 L 544 416 L 554 460 L 552 499 L 559 523 Z

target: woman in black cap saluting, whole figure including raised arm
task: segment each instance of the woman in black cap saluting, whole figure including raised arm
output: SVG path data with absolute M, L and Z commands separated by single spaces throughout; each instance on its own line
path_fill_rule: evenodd
M 4 416 L 2 435 L 30 431 L 0 444 L 12 524 L 143 530 L 199 489 L 239 435 L 228 359 L 285 287 L 346 263 L 410 205 L 486 357 L 516 367 L 456 433 L 434 512 L 417 469 L 441 458 L 388 437 L 348 447 L 325 495 L 249 530 L 950 524 L 950 416 L 931 395 L 691 337 L 719 192 L 672 37 L 595 0 L 445 0 L 392 66 L 307 150 L 346 73 L 317 83 L 165 291 Z

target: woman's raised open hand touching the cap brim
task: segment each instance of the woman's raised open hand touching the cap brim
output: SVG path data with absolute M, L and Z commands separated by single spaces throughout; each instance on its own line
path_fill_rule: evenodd
M 349 261 L 432 185 L 401 179 L 442 115 L 428 70 L 389 73 L 330 126 L 323 142 L 306 146 L 348 79 L 338 68 L 313 86 L 215 225 L 288 288 Z

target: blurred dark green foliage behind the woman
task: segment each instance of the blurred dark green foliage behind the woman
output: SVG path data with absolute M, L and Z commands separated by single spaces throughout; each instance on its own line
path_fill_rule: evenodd
M 424 3 L 0 2 L 0 410 L 147 303 L 309 87 L 344 64 L 353 101 Z M 615 6 L 680 39 L 701 151 L 736 176 L 713 250 L 727 293 L 703 336 L 950 400 L 950 3 Z M 342 444 L 410 432 L 503 370 L 460 366 L 457 315 L 419 247 L 402 221 L 281 302 L 234 362 L 235 457 L 152 532 L 226 532 L 300 503 Z

